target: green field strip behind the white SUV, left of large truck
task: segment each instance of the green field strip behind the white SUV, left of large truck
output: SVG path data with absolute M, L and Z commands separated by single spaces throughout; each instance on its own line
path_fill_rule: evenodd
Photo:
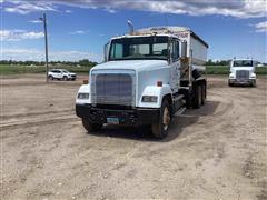
M 57 67 L 49 67 L 53 69 Z M 73 67 L 66 66 L 59 67 L 60 69 L 66 69 L 76 73 L 89 73 L 91 67 Z M 22 74 L 22 73 L 46 73 L 44 66 L 11 66 L 11 64 L 0 64 L 0 74 Z

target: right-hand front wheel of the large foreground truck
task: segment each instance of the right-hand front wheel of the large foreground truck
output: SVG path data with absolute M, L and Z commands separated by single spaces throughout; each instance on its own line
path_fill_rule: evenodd
M 152 124 L 152 133 L 156 138 L 162 139 L 168 136 L 171 120 L 170 104 L 167 99 L 164 100 L 160 108 L 159 123 Z

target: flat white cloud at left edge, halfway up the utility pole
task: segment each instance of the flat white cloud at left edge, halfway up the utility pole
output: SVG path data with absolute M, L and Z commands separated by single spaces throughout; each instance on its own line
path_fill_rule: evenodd
M 1 41 L 19 41 L 43 38 L 43 32 L 24 31 L 24 30 L 0 30 Z

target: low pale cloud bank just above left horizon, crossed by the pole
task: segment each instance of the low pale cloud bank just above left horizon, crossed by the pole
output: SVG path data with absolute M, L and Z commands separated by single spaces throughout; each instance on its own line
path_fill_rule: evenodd
M 50 61 L 79 61 L 82 59 L 89 59 L 91 61 L 100 62 L 102 61 L 102 56 L 86 52 L 86 51 L 49 51 Z M 17 61 L 44 61 L 44 50 L 38 49 L 19 49 L 19 48 L 3 48 L 2 49 L 2 59 L 3 60 L 17 60 Z

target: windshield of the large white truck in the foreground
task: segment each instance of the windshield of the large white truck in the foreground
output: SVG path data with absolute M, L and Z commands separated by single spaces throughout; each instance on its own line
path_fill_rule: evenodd
M 167 60 L 167 56 L 168 37 L 121 38 L 112 40 L 109 60 Z

